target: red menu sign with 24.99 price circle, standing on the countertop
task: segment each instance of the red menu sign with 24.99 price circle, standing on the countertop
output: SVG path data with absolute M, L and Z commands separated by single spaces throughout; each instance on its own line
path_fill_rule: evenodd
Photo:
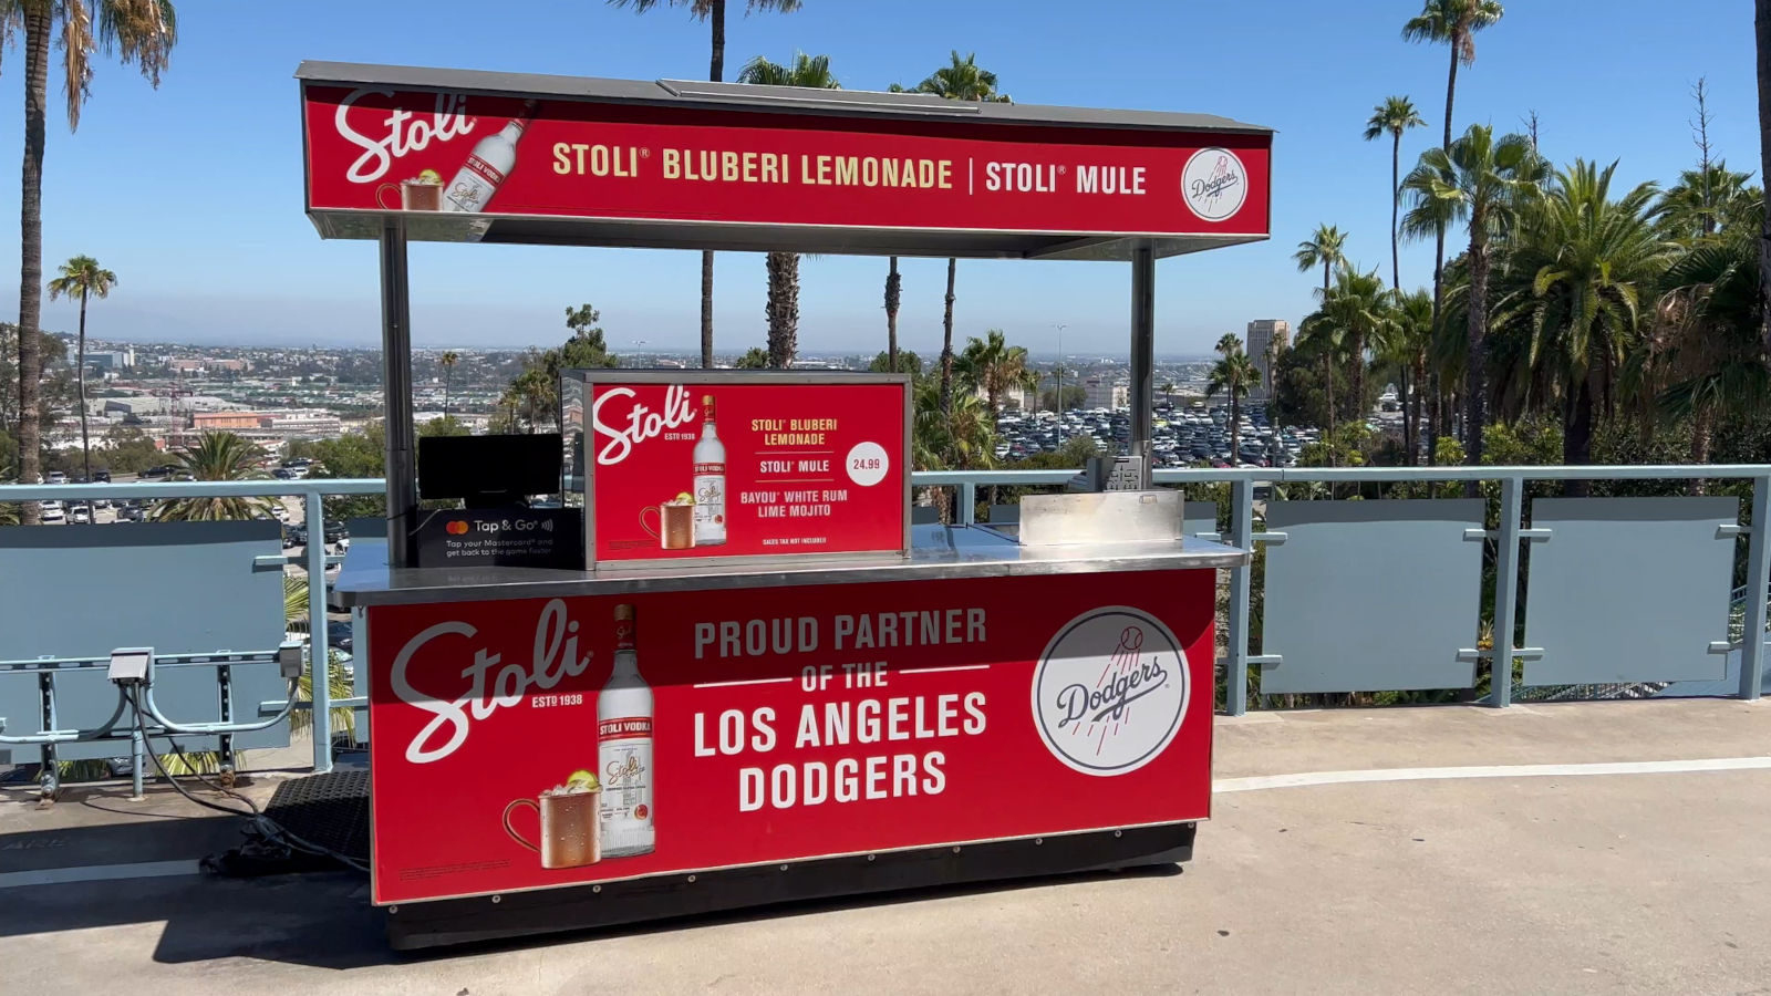
M 896 553 L 909 516 L 909 383 L 886 376 L 590 372 L 593 564 Z

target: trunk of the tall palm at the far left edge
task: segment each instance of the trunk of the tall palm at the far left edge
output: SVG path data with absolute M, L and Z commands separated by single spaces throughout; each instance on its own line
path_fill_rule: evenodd
M 19 266 L 18 266 L 18 471 L 19 480 L 35 484 L 43 475 L 43 420 L 39 381 L 43 379 L 43 144 L 44 103 L 50 90 L 51 5 L 37 0 L 25 5 L 25 167 L 19 193 Z M 35 502 L 25 502 L 27 526 L 43 521 Z

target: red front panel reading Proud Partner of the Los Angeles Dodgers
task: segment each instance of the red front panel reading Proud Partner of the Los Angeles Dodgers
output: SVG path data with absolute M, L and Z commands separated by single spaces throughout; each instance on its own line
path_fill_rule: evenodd
M 368 610 L 374 900 L 1206 819 L 1213 572 Z

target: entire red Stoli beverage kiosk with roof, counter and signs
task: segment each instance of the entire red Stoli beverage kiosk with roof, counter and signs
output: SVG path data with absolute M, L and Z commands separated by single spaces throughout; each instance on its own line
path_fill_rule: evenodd
M 1247 553 L 1181 539 L 1179 494 L 1149 489 L 1153 275 L 1266 237 L 1266 129 L 298 76 L 308 214 L 381 243 L 388 544 L 354 546 L 333 597 L 367 622 L 397 946 L 1190 856 L 1217 571 Z M 616 369 L 561 379 L 565 509 L 475 502 L 522 491 L 485 482 L 421 512 L 407 239 L 1130 261 L 1130 489 L 912 526 L 905 377 Z

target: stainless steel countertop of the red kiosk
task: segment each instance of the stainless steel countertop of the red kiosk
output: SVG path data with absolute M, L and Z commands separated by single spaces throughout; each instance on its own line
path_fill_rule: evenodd
M 792 585 L 854 585 L 866 581 L 933 581 L 946 578 L 1009 578 L 1020 574 L 1091 574 L 1109 571 L 1188 571 L 1238 567 L 1249 553 L 1233 546 L 1185 539 L 1172 542 L 1103 542 L 1087 546 L 1020 546 L 986 528 L 912 526 L 910 556 L 806 560 L 742 565 L 648 565 L 618 571 L 537 571 L 526 567 L 388 569 L 386 544 L 351 544 L 331 601 L 336 606 L 418 604 L 632 592 L 710 592 Z

